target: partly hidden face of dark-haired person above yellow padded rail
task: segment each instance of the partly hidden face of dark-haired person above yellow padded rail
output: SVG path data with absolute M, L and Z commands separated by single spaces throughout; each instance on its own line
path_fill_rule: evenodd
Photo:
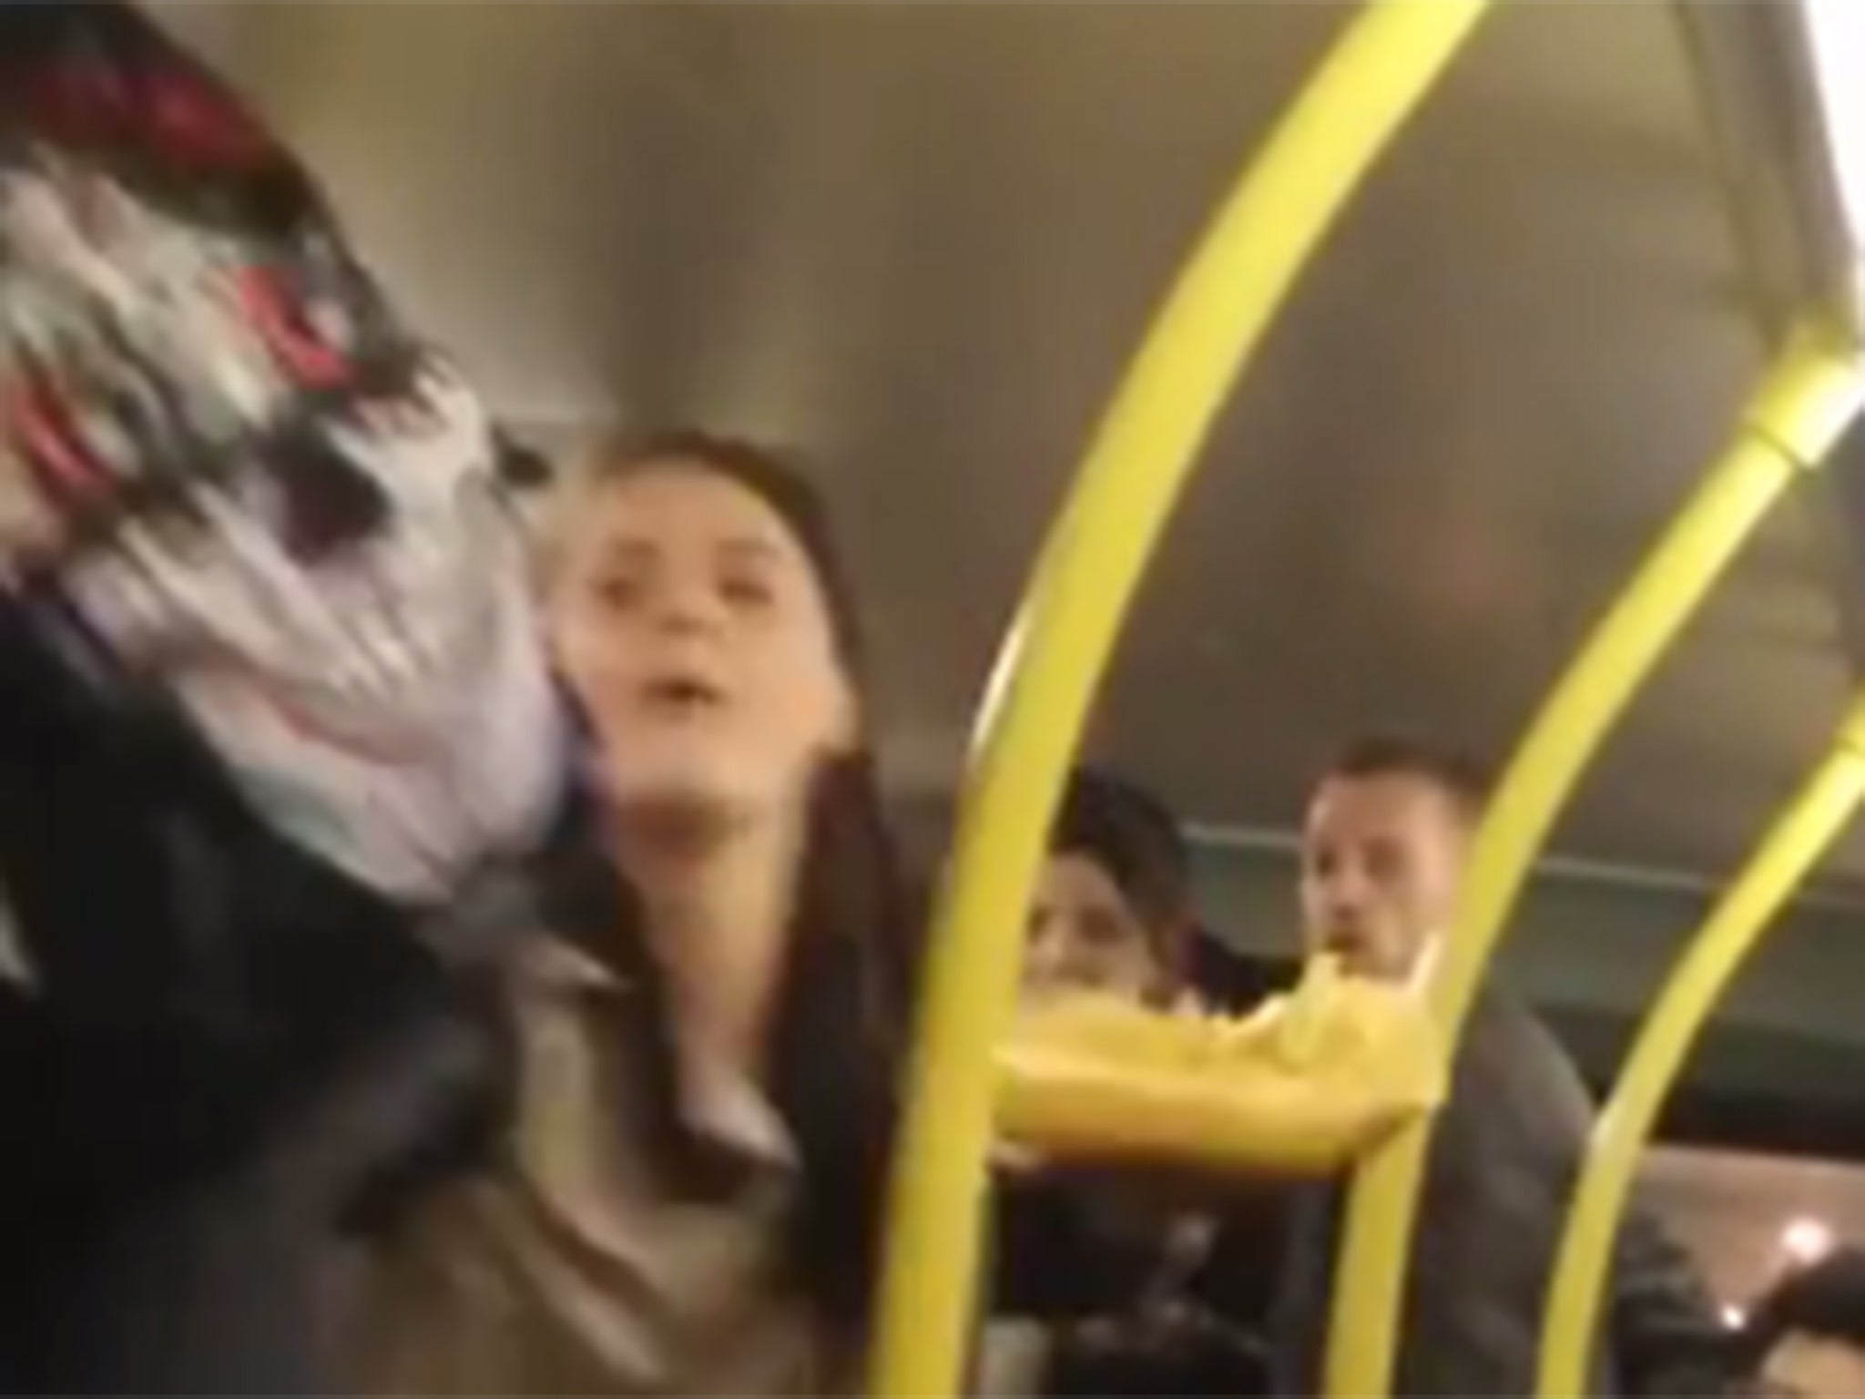
M 1158 949 L 1113 877 L 1085 854 L 1052 854 L 1029 908 L 1024 994 L 1104 990 L 1151 1000 L 1164 979 Z

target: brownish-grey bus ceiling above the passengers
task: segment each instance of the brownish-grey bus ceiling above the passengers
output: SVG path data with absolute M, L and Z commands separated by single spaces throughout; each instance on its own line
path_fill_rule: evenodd
M 931 789 L 1147 310 L 1354 7 L 155 9 L 517 431 L 701 418 L 821 466 L 871 580 L 890 767 Z M 1783 11 L 1498 7 L 1227 409 L 1097 746 L 1240 828 L 1287 826 L 1367 724 L 1507 750 L 1787 310 L 1852 306 Z M 1843 504 L 1858 455 L 1807 498 Z M 1738 858 L 1865 660 L 1852 519 L 1768 522 L 1565 852 Z M 1865 841 L 1837 864 L 1865 880 Z

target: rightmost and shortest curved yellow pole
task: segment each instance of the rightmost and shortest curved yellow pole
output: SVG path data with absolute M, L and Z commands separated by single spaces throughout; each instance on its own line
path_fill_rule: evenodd
M 1606 1112 L 1593 1129 L 1542 1326 L 1537 1384 L 1542 1399 L 1580 1399 L 1585 1388 L 1619 1216 L 1684 1056 L 1749 949 L 1761 942 L 1815 860 L 1858 813 L 1859 802 L 1865 802 L 1865 698 L 1854 701 L 1826 761 L 1794 793 L 1692 940 L 1645 1018 Z

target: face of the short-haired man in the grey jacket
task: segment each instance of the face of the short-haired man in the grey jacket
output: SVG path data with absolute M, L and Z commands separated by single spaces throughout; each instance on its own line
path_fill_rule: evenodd
M 1455 798 L 1410 772 L 1328 778 L 1302 836 L 1309 953 L 1402 981 L 1451 920 L 1468 830 Z

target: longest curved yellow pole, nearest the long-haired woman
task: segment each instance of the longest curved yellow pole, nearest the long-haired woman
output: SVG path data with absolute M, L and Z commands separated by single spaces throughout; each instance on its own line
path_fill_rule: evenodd
M 955 1393 L 974 1321 L 992 1045 L 1063 772 L 1197 448 L 1296 274 L 1486 0 L 1356 15 L 1186 265 L 1110 403 L 974 735 L 895 1153 L 873 1388 Z

